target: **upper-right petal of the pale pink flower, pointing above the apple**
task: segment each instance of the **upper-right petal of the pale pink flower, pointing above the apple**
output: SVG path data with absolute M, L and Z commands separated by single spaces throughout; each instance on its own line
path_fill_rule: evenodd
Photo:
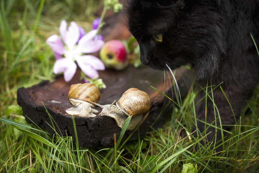
M 103 40 L 96 40 L 94 39 L 96 37 L 96 30 L 92 30 L 85 34 L 78 42 L 76 52 L 77 53 L 93 53 L 102 48 L 104 45 Z

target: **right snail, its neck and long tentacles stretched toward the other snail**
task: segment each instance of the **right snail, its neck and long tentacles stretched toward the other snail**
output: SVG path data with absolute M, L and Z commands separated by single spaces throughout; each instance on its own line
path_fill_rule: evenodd
M 100 116 L 111 116 L 115 119 L 117 125 L 122 128 L 128 116 L 132 119 L 127 130 L 132 130 L 143 119 L 143 114 L 151 108 L 151 99 L 147 93 L 136 88 L 130 88 L 123 93 L 116 105 L 113 101 L 110 105 L 100 105 L 91 101 L 91 103 L 100 106 L 102 112 Z

